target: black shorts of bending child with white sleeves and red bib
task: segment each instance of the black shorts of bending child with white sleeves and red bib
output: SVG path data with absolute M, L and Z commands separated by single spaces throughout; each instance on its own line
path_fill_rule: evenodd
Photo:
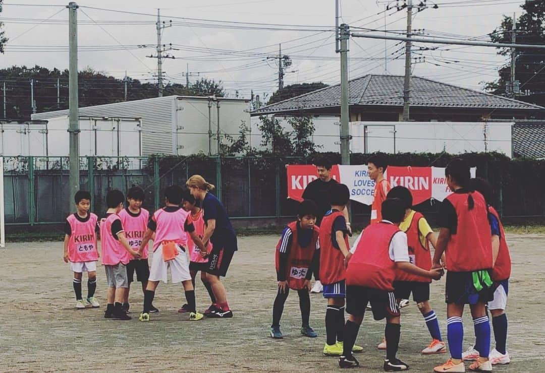
M 373 318 L 382 320 L 387 315 L 399 316 L 399 305 L 393 291 L 349 285 L 346 287 L 346 311 L 350 315 L 363 316 L 367 303 L 371 303 Z

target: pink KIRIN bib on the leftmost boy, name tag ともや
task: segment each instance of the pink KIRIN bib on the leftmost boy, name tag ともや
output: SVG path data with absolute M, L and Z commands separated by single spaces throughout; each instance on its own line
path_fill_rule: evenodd
M 68 241 L 68 260 L 72 263 L 98 260 L 95 233 L 98 217 L 89 213 L 88 221 L 83 223 L 72 213 L 66 220 L 72 232 Z

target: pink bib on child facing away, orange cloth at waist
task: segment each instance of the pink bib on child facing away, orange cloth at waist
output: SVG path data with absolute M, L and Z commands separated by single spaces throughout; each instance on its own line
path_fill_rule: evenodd
M 184 222 L 189 212 L 178 209 L 168 212 L 165 209 L 155 211 L 153 219 L 157 224 L 155 229 L 155 240 L 153 251 L 157 250 L 164 241 L 178 243 L 183 247 L 187 246 L 187 233 L 184 230 Z

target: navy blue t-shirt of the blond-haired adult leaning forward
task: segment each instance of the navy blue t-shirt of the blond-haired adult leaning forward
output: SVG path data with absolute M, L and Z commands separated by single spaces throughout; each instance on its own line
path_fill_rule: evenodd
M 227 216 L 227 211 L 214 194 L 207 193 L 202 201 L 201 208 L 204 210 L 204 223 L 208 224 L 210 219 L 215 219 L 216 228 L 210 237 L 214 246 L 219 245 L 226 249 L 237 251 L 237 236 Z

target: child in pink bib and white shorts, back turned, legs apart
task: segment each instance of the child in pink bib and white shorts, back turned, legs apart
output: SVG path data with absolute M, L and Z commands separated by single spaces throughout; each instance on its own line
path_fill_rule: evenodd
M 165 189 L 165 204 L 155 211 L 148 223 L 148 230 L 142 240 L 140 253 L 146 248 L 155 232 L 153 241 L 152 268 L 149 273 L 148 286 L 144 291 L 144 309 L 140 321 L 149 321 L 152 310 L 155 289 L 160 281 L 167 282 L 168 268 L 171 270 L 172 282 L 184 285 L 185 298 L 189 307 L 189 320 L 201 320 L 204 316 L 197 312 L 195 290 L 189 273 L 189 258 L 187 255 L 187 233 L 184 223 L 189 213 L 180 207 L 183 190 L 176 185 Z M 201 250 L 205 250 L 201 239 L 195 231 L 190 232 L 191 239 Z

